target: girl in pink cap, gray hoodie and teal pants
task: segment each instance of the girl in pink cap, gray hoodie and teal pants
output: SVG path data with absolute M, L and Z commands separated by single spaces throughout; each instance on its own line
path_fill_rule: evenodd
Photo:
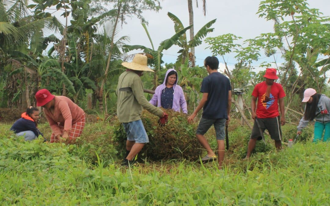
M 324 131 L 323 141 L 329 141 L 330 137 L 330 99 L 324 94 L 317 94 L 315 89 L 308 88 L 304 92 L 304 99 L 306 102 L 305 112 L 301 118 L 297 134 L 301 134 L 304 127 L 309 121 L 315 119 L 314 125 L 314 139 L 313 142 L 320 141 Z

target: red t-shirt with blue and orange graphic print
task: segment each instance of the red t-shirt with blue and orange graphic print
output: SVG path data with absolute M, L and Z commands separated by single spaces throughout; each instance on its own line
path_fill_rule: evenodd
M 270 98 L 266 102 L 267 84 L 265 81 L 255 85 L 252 96 L 258 98 L 257 101 L 257 117 L 258 118 L 274 118 L 280 115 L 278 99 L 285 97 L 285 93 L 281 84 L 274 82 L 271 87 Z

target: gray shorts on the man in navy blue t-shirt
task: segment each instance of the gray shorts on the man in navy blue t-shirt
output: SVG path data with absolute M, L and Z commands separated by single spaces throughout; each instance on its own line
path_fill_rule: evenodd
M 210 127 L 214 125 L 215 129 L 215 135 L 217 140 L 224 140 L 225 139 L 225 125 L 226 125 L 226 119 L 206 119 L 201 118 L 199 121 L 196 134 L 202 134 L 204 135 Z

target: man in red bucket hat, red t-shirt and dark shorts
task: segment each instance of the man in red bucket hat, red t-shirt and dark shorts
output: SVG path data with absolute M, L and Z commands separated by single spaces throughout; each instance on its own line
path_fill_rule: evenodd
M 262 134 L 266 129 L 268 130 L 272 139 L 275 140 L 275 146 L 278 150 L 281 149 L 281 125 L 285 124 L 284 117 L 284 90 L 279 83 L 275 83 L 275 79 L 279 77 L 276 75 L 276 69 L 266 69 L 264 75 L 265 81 L 255 85 L 252 92 L 251 101 L 251 115 L 254 119 L 254 124 L 248 142 L 247 159 L 250 157 L 252 150 L 255 147 L 257 139 L 261 140 Z M 256 101 L 258 99 L 257 108 Z M 281 110 L 281 118 L 279 114 L 279 106 Z M 281 124 L 280 124 L 281 122 Z M 259 128 L 260 127 L 260 128 Z M 261 131 L 260 131 L 261 130 Z

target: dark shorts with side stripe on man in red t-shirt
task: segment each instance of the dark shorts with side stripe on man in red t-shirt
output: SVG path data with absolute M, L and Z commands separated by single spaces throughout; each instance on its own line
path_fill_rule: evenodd
M 281 131 L 281 123 L 280 123 L 280 116 L 274 118 L 256 118 L 260 129 L 262 132 L 265 132 L 267 129 L 271 139 L 279 141 L 282 139 L 282 131 Z M 261 134 L 257 123 L 254 121 L 252 132 L 251 132 L 251 139 L 261 140 Z

